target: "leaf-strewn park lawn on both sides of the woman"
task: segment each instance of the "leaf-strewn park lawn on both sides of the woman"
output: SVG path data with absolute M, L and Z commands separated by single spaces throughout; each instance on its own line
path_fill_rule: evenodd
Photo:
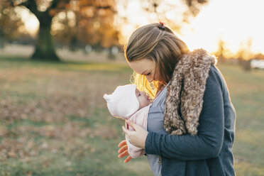
M 219 65 L 236 108 L 237 175 L 264 175 L 264 70 Z M 117 158 L 123 120 L 102 99 L 128 84 L 121 63 L 0 56 L 0 175 L 152 175 L 145 156 Z

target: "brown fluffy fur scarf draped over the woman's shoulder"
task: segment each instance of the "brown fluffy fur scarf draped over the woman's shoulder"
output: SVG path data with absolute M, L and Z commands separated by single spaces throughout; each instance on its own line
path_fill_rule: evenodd
M 167 86 L 164 128 L 168 134 L 197 134 L 209 69 L 216 64 L 203 49 L 182 55 Z

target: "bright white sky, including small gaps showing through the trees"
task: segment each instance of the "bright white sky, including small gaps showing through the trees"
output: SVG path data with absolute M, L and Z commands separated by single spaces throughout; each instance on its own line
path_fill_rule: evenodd
M 179 1 L 165 1 L 179 5 Z M 136 29 L 135 26 L 156 21 L 155 16 L 151 14 L 147 16 L 138 6 L 139 0 L 128 1 L 128 8 L 124 11 L 117 4 L 119 14 L 128 18 L 128 24 L 121 26 L 125 40 Z M 185 11 L 184 8 L 180 10 Z M 21 16 L 26 29 L 30 33 L 35 33 L 39 24 L 35 16 L 26 10 Z M 173 11 L 167 12 L 166 16 L 171 19 L 179 17 Z M 187 43 L 190 50 L 204 48 L 213 53 L 218 48 L 219 40 L 222 40 L 224 48 L 230 51 L 229 57 L 236 55 L 241 48 L 249 54 L 264 54 L 263 21 L 263 0 L 209 0 L 209 4 L 203 6 L 190 23 L 183 23 L 180 33 L 176 34 Z M 170 24 L 166 25 L 170 27 Z

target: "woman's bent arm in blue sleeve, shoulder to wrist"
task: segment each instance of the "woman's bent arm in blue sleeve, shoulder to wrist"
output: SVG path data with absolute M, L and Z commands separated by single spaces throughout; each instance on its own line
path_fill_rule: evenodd
M 196 136 L 172 136 L 148 133 L 145 153 L 177 160 L 199 160 L 219 155 L 224 141 L 224 101 L 221 83 L 209 72 L 204 92 L 203 109 Z

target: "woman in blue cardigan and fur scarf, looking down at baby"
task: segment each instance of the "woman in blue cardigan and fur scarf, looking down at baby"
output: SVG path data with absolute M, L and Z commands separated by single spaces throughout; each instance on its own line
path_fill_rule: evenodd
M 235 175 L 236 113 L 216 59 L 202 49 L 189 52 L 163 23 L 138 28 L 124 52 L 138 89 L 157 97 L 154 103 L 162 99 L 150 106 L 148 131 L 129 121 L 135 131 L 123 128 L 128 140 L 150 156 L 154 174 Z M 127 155 L 126 143 L 119 147 L 119 157 Z

